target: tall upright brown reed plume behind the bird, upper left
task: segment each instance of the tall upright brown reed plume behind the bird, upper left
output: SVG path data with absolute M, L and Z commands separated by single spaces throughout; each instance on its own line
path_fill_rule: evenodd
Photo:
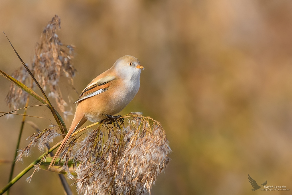
M 55 15 L 45 27 L 41 41 L 35 47 L 32 69 L 43 89 L 49 87 L 49 96 L 55 99 L 58 108 L 66 117 L 70 113 L 65 109 L 67 103 L 62 97 L 58 83 L 60 77 L 65 75 L 72 86 L 76 70 L 72 65 L 74 46 L 63 45 L 56 34 L 61 28 L 60 23 L 60 17 Z

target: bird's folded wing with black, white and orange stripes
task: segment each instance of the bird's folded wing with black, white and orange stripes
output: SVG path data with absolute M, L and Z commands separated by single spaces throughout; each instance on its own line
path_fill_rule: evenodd
M 111 85 L 111 81 L 116 80 L 116 77 L 113 75 L 107 75 L 105 77 L 101 77 L 101 76 L 102 75 L 92 80 L 87 85 L 87 87 L 82 91 L 82 93 L 79 96 L 79 99 L 75 101 L 74 103 L 84 100 L 86 98 L 95 96 L 102 92 L 105 92 L 108 89 L 108 87 Z

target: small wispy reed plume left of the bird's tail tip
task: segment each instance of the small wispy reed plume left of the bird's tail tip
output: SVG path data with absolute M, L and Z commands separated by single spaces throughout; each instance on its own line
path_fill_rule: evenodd
M 50 128 L 36 132 L 32 134 L 32 136 L 28 137 L 27 139 L 30 139 L 30 143 L 24 149 L 19 150 L 16 162 L 22 162 L 22 157 L 29 156 L 31 148 L 35 145 L 37 145 L 37 148 L 40 151 L 43 151 L 49 143 L 53 142 L 55 137 L 61 135 L 57 132 L 59 129 L 60 127 L 58 125 L 52 125 Z

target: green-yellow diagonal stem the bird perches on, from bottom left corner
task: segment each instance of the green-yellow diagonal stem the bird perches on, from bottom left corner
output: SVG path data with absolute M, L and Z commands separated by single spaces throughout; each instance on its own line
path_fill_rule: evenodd
M 80 129 L 79 131 L 73 133 L 71 135 L 71 137 L 74 137 L 76 134 L 78 134 L 81 131 L 84 131 L 90 127 L 93 127 L 94 125 L 99 124 L 100 122 L 96 122 L 93 123 L 91 125 L 88 125 L 87 127 L 84 127 L 82 129 Z M 36 165 L 37 163 L 39 163 L 41 161 L 41 159 L 48 155 L 48 153 L 50 153 L 51 151 L 55 150 L 56 148 L 58 148 L 58 146 L 60 146 L 62 143 L 62 141 L 60 141 L 58 144 L 55 144 L 53 147 L 51 147 L 51 149 L 49 149 L 48 151 L 46 151 L 44 154 L 42 154 L 38 159 L 36 159 L 34 162 L 32 162 L 30 165 L 28 165 L 24 170 L 22 170 L 16 177 L 14 177 L 3 189 L 0 190 L 0 195 L 4 194 L 4 192 L 6 192 L 13 184 L 15 184 L 23 175 L 25 175 L 25 173 L 27 173 L 29 170 L 31 170 L 34 165 Z

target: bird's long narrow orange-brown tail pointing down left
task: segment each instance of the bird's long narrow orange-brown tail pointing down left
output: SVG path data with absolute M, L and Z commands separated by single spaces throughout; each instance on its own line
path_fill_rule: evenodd
M 51 164 L 48 167 L 48 170 L 55 164 L 56 159 L 59 157 L 60 153 L 63 151 L 63 149 L 65 148 L 65 145 L 67 144 L 68 140 L 70 139 L 71 135 L 73 134 L 73 132 L 78 129 L 79 127 L 81 127 L 81 125 L 84 124 L 84 122 L 86 122 L 86 119 L 84 117 L 84 115 L 78 114 L 77 112 L 74 115 L 72 124 L 69 128 L 68 133 L 66 134 L 65 138 L 63 139 L 57 153 L 55 154 Z

